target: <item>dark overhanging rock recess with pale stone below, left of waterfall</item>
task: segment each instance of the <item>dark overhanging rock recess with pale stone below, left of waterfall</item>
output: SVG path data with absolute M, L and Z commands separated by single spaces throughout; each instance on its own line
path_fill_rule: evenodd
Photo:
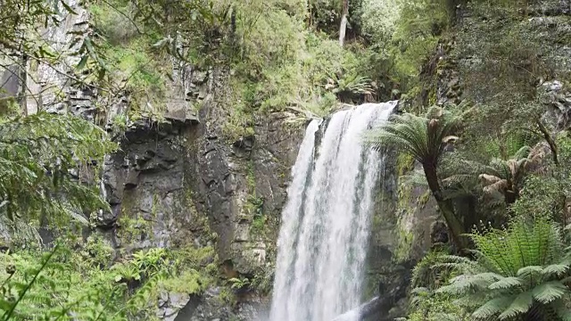
M 173 246 L 203 228 L 185 193 L 184 128 L 164 129 L 131 128 L 120 152 L 105 160 L 103 187 L 112 211 L 101 213 L 98 226 L 112 231 L 117 248 Z

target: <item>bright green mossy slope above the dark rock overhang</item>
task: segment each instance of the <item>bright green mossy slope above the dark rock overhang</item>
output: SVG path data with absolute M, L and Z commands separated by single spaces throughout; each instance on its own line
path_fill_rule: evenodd
M 128 2 L 95 0 L 88 5 L 95 31 L 97 53 L 103 58 L 113 83 L 120 84 L 129 97 L 129 116 L 144 113 L 145 117 L 161 119 L 167 73 L 171 63 L 150 46 L 158 39 L 152 29 L 139 27 L 128 17 L 133 12 Z M 127 15 L 127 16 L 126 16 Z

